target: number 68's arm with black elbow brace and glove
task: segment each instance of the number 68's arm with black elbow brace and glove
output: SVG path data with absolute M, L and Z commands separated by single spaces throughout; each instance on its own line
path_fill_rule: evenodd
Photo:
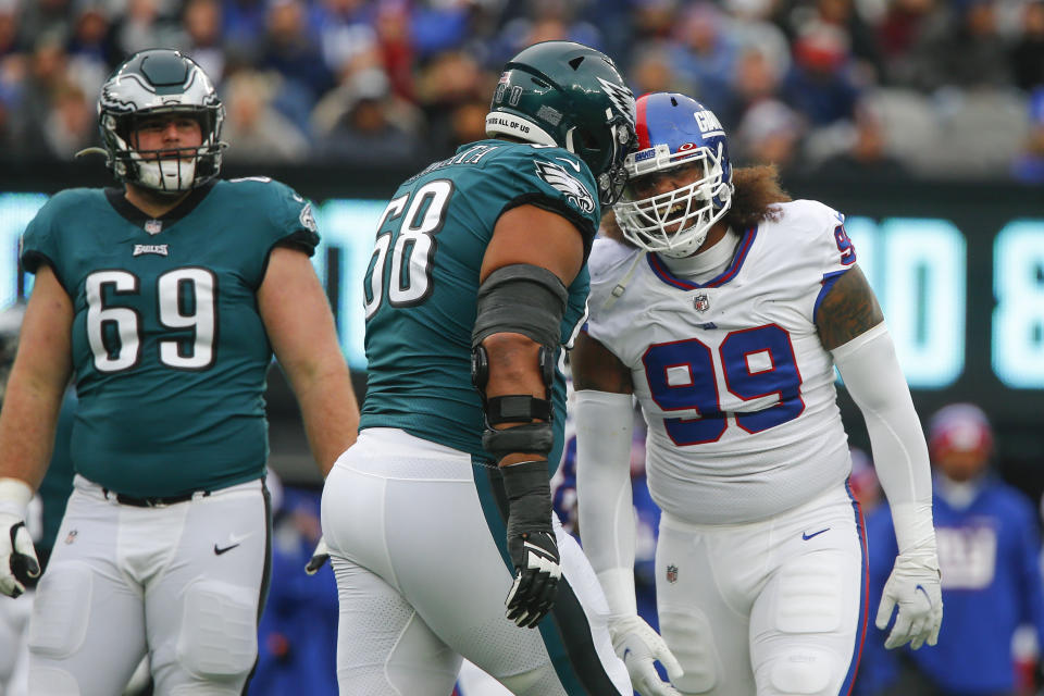
M 555 445 L 550 389 L 567 286 L 583 262 L 583 238 L 571 222 L 520 206 L 497 221 L 478 278 L 472 380 L 486 422 L 483 448 L 497 460 L 508 499 L 515 575 L 506 616 L 523 629 L 550 611 L 561 576 L 547 463 Z

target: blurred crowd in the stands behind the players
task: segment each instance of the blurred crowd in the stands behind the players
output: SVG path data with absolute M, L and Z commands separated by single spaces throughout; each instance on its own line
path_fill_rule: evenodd
M 217 80 L 229 162 L 421 165 L 557 38 L 699 98 L 739 163 L 1044 183 L 1044 0 L 0 0 L 0 160 L 95 145 L 104 77 L 164 46 Z

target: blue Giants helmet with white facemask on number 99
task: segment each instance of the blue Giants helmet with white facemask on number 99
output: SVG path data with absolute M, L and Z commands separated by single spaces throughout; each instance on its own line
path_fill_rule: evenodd
M 692 256 L 732 206 L 725 132 L 701 103 L 669 92 L 638 99 L 637 132 L 638 149 L 625 160 L 630 183 L 613 206 L 620 231 L 646 251 Z M 649 195 L 650 178 L 693 164 L 691 183 Z

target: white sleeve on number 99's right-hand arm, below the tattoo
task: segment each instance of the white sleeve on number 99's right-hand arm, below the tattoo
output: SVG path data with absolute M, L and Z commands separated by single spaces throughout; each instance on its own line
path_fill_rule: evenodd
M 831 355 L 867 422 L 899 552 L 934 546 L 928 445 L 887 327 L 882 322 Z

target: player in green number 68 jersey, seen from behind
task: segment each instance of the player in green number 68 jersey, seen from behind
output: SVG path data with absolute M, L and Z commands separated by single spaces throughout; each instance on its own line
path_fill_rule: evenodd
M 377 225 L 361 431 L 322 506 L 343 696 L 445 696 L 462 657 L 514 694 L 632 693 L 548 478 L 634 98 L 602 53 L 537 44 L 506 65 L 486 133 Z

